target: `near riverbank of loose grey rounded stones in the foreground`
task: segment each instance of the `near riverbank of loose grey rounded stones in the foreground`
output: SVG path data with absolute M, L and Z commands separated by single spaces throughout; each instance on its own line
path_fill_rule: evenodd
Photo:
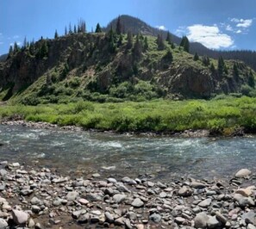
M 255 228 L 256 176 L 230 180 L 60 176 L 2 162 L 0 228 Z M 89 175 L 87 176 L 89 177 Z

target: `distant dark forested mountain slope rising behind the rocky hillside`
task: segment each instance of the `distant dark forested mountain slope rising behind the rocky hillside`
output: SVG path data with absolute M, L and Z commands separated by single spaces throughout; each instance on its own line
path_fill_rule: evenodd
M 158 28 L 153 28 L 152 26 L 148 25 L 146 22 L 141 21 L 139 18 L 135 18 L 130 15 L 120 15 L 120 19 L 124 29 L 126 31 L 131 31 L 133 34 L 141 34 L 157 36 L 158 34 L 162 34 L 165 38 L 167 32 L 163 30 L 159 30 Z M 104 31 L 109 31 L 109 29 L 116 28 L 117 18 L 109 22 L 108 26 L 104 28 Z M 181 38 L 172 34 L 172 41 L 179 45 Z M 247 65 L 251 66 L 254 71 L 256 71 L 256 52 L 252 51 L 215 51 L 203 46 L 201 43 L 198 42 L 190 42 L 190 53 L 195 54 L 198 53 L 199 55 L 207 55 L 210 58 L 218 59 L 222 56 L 224 59 L 240 59 L 247 63 Z

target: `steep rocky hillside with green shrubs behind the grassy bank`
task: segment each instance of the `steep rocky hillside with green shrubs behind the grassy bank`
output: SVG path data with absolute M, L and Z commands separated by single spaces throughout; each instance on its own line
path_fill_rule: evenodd
M 220 72 L 217 60 L 196 61 L 183 47 L 166 41 L 159 47 L 153 36 L 128 40 L 127 34 L 110 30 L 22 47 L 0 63 L 0 98 L 35 105 L 254 93 L 255 72 L 242 62 L 225 61 Z

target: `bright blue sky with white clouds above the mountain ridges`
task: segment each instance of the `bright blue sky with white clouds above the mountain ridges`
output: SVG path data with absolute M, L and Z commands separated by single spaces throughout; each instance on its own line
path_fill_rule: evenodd
M 91 31 L 122 14 L 209 48 L 256 50 L 256 0 L 0 0 L 0 55 L 25 36 L 53 38 L 79 18 Z

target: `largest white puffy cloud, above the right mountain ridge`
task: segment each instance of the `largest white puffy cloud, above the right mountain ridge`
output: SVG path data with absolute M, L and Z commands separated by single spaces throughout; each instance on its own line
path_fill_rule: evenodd
M 218 49 L 230 47 L 234 44 L 234 40 L 228 34 L 222 34 L 216 25 L 204 26 L 196 24 L 189 26 L 187 30 L 187 36 L 190 41 L 199 42 L 208 48 Z

